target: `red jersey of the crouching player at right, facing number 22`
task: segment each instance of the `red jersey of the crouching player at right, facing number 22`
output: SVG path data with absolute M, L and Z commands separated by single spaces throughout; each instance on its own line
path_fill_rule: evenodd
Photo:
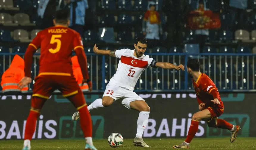
M 220 109 L 224 108 L 218 89 L 209 76 L 202 73 L 196 82 L 193 79 L 192 82 L 196 92 L 198 104 L 205 103 L 205 107 L 219 107 Z M 211 100 L 214 100 L 215 98 L 218 98 L 220 105 L 211 102 Z

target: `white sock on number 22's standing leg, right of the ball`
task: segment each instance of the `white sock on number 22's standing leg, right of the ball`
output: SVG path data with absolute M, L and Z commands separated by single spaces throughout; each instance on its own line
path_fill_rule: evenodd
M 138 121 L 137 121 L 137 133 L 136 137 L 142 138 L 144 129 L 148 125 L 148 120 L 149 120 L 149 112 L 140 112 Z

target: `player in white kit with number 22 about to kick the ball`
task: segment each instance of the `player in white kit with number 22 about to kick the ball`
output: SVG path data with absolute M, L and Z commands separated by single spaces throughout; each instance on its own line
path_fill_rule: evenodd
M 146 38 L 137 38 L 134 44 L 135 49 L 120 49 L 116 51 L 99 50 L 96 44 L 93 47 L 93 52 L 96 54 L 109 55 L 111 57 L 119 58 L 118 68 L 114 76 L 107 84 L 106 90 L 102 99 L 96 99 L 87 108 L 89 111 L 98 109 L 100 107 L 107 107 L 114 101 L 124 98 L 122 104 L 128 109 L 139 111 L 137 121 L 137 134 L 133 141 L 135 146 L 149 147 L 142 139 L 143 131 L 148 124 L 150 108 L 143 98 L 133 92 L 136 82 L 143 73 L 143 71 L 151 66 L 153 68 L 164 69 L 182 69 L 183 65 L 173 65 L 169 62 L 157 62 L 149 55 L 144 55 L 147 47 Z M 72 120 L 79 118 L 79 112 L 75 112 Z

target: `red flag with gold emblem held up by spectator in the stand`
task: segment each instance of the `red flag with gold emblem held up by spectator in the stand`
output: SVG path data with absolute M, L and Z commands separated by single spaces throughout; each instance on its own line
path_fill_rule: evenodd
M 188 26 L 191 29 L 217 29 L 221 27 L 219 14 L 211 10 L 195 10 L 188 16 Z

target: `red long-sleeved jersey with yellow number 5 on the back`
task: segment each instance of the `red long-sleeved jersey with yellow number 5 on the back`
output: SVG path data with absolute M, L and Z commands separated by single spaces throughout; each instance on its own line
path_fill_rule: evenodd
M 79 53 L 83 53 L 82 55 L 85 56 L 82 40 L 79 33 L 65 26 L 53 26 L 38 32 L 36 37 L 29 44 L 24 57 L 25 76 L 30 76 L 31 74 L 31 51 L 32 54 L 34 54 L 39 47 L 41 48 L 41 55 L 39 60 L 39 76 L 71 76 L 73 74 L 71 62 L 72 49 L 76 53 L 76 50 L 79 50 Z M 86 57 L 83 64 L 85 64 L 86 68 L 84 68 L 84 70 L 87 72 Z M 84 74 L 86 74 L 86 72 L 84 71 Z

